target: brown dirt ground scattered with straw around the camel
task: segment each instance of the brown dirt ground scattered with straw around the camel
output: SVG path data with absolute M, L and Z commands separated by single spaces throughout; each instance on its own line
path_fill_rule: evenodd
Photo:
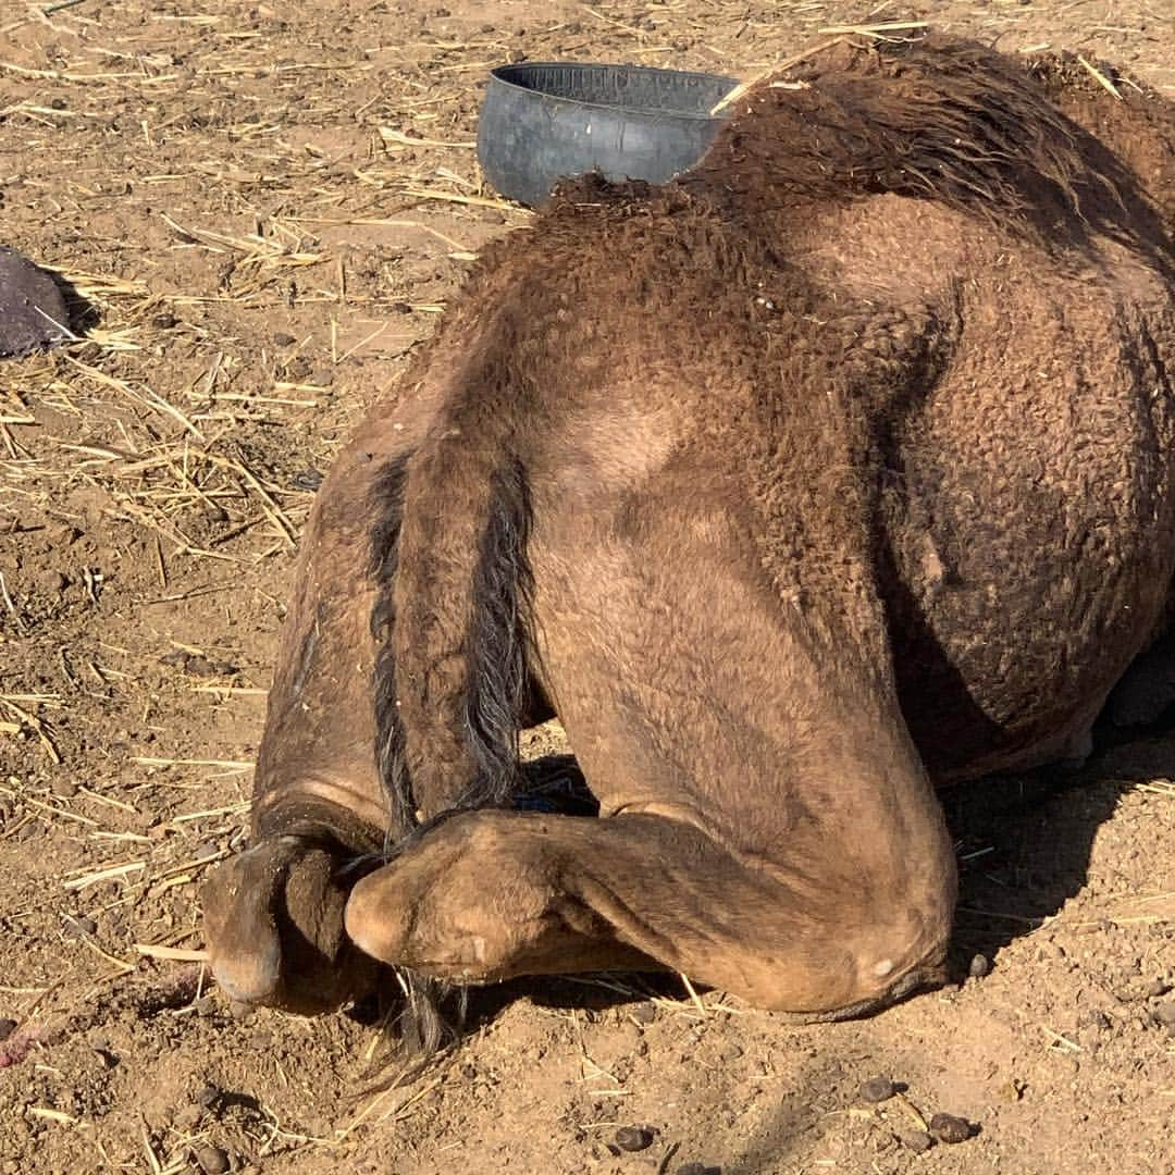
M 529 220 L 478 182 L 488 67 L 748 76 L 927 19 L 1175 96 L 1171 0 L 56 7 L 0 11 L 0 242 L 72 284 L 82 336 L 0 365 L 0 1175 L 1175 1171 L 1171 737 L 956 812 L 961 981 L 872 1020 L 515 985 L 374 1094 L 369 1018 L 248 1014 L 194 961 L 321 474 Z M 905 1092 L 866 1103 L 875 1075 Z M 920 1153 L 939 1112 L 978 1133 Z

